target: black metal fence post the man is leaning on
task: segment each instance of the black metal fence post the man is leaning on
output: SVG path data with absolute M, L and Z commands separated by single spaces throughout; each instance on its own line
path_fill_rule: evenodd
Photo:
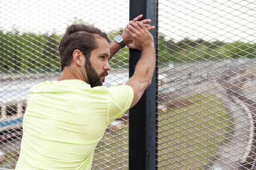
M 155 0 L 130 0 L 130 20 L 139 14 L 151 19 L 155 47 L 157 45 L 157 2 Z M 156 48 L 157 49 L 157 48 Z M 130 49 L 129 76 L 135 71 L 141 51 Z M 157 68 L 157 67 L 156 67 Z M 129 111 L 129 169 L 156 169 L 156 92 L 157 71 L 152 84 L 146 89 L 138 104 Z

